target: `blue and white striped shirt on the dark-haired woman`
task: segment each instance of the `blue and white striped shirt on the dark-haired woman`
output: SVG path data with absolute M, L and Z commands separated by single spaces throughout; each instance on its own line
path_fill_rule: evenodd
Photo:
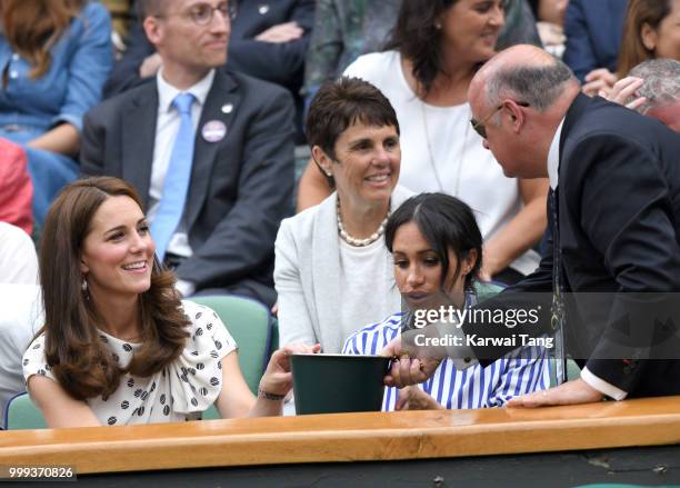
M 377 355 L 399 336 L 403 313 L 352 333 L 342 348 L 346 355 Z M 528 351 L 527 351 L 528 350 Z M 527 353 L 528 352 L 528 353 Z M 527 359 L 531 358 L 531 359 Z M 502 407 L 510 398 L 543 390 L 550 386 L 550 360 L 543 348 L 527 348 L 522 358 L 502 358 L 482 368 L 480 365 L 458 371 L 450 359 L 443 360 L 420 389 L 446 408 Z M 397 388 L 384 389 L 382 410 L 394 410 Z

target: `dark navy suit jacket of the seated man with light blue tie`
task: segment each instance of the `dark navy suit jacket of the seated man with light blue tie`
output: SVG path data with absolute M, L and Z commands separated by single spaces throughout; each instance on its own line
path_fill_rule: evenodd
M 222 107 L 232 104 L 231 112 Z M 84 118 L 82 172 L 134 185 L 149 202 L 158 111 L 157 83 L 121 93 Z M 293 107 L 280 87 L 216 72 L 197 130 L 186 217 L 193 256 L 178 276 L 203 288 L 242 280 L 272 286 L 273 243 L 291 206 Z M 208 142 L 201 128 L 220 120 L 227 136 Z

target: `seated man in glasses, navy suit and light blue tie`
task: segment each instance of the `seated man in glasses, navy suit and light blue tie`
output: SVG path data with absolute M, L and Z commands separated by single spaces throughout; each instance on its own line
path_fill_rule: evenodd
M 292 99 L 216 69 L 233 4 L 140 4 L 162 69 L 87 114 L 82 172 L 137 187 L 158 256 L 176 268 L 184 296 L 246 295 L 272 306 L 273 242 L 293 187 Z

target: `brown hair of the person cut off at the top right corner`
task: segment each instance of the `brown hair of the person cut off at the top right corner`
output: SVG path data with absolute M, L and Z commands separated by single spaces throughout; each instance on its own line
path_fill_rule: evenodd
M 626 13 L 621 51 L 619 54 L 619 78 L 642 61 L 654 59 L 654 52 L 642 43 L 640 32 L 644 23 L 658 29 L 661 21 L 671 12 L 670 0 L 630 0 Z

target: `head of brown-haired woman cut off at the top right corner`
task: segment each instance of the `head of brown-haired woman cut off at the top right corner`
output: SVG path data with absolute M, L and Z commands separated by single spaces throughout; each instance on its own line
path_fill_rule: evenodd
M 619 79 L 648 59 L 680 61 L 680 0 L 630 0 L 619 57 Z

